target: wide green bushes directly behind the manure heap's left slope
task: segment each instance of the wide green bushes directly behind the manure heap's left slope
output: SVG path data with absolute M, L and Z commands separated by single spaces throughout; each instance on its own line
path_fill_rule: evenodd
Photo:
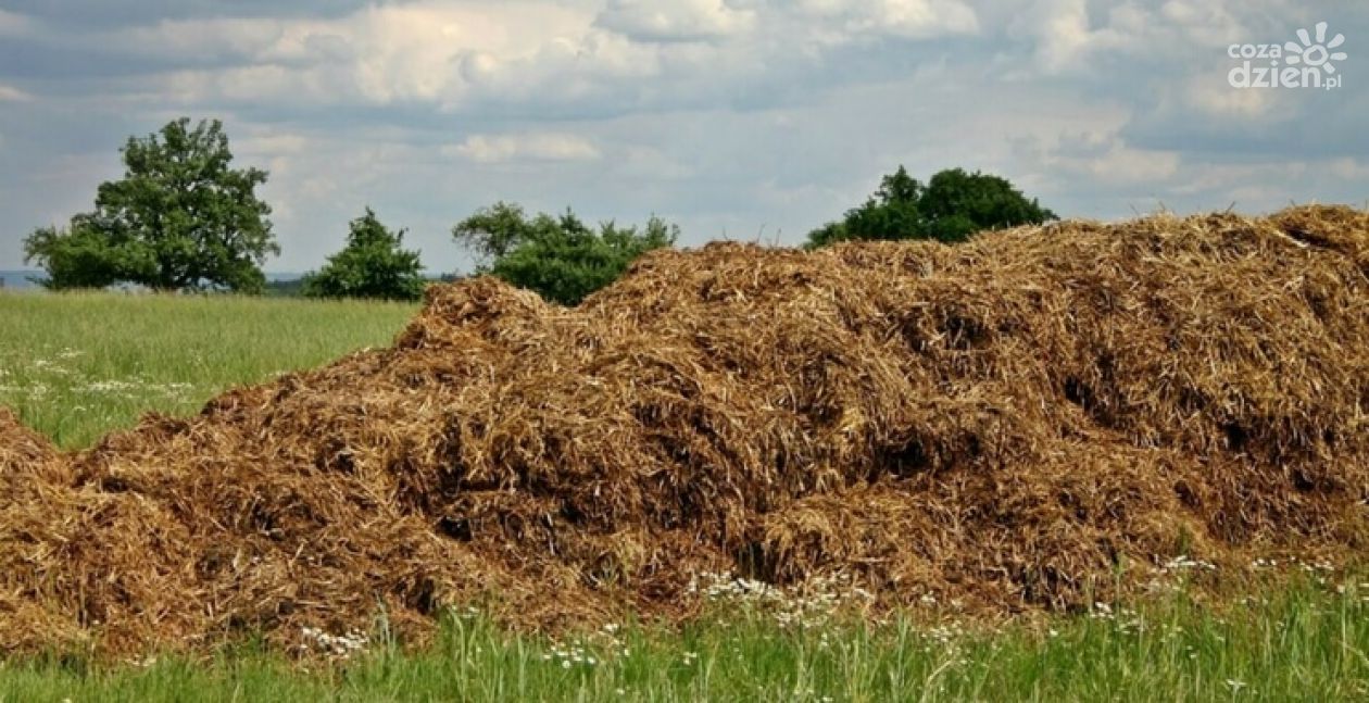
M 641 229 L 602 222 L 596 232 L 570 210 L 528 218 L 519 206 L 496 203 L 457 223 L 452 236 L 486 262 L 481 273 L 574 306 L 617 280 L 632 259 L 675 244 L 679 227 L 652 217 Z

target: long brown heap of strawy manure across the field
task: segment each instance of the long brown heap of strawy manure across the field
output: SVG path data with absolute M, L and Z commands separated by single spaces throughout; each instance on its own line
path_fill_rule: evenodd
M 1369 214 L 1339 207 L 660 251 L 576 308 L 479 278 L 88 451 L 0 412 L 7 652 L 679 618 L 724 570 L 1069 610 L 1176 556 L 1365 547 Z

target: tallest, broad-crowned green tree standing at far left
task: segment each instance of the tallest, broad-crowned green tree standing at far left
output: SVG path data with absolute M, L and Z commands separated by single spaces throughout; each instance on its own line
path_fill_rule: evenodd
M 93 212 L 25 238 L 25 260 L 47 270 L 45 286 L 261 291 L 261 264 L 281 254 L 271 208 L 256 197 L 267 173 L 230 167 L 222 122 L 190 129 L 177 119 L 130 137 L 122 156 L 123 178 L 100 185 Z

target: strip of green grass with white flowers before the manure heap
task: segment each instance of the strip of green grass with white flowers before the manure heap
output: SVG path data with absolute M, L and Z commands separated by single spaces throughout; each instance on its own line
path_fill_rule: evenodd
M 786 630 L 734 607 L 682 632 L 553 643 L 452 617 L 418 652 L 378 644 L 312 670 L 252 648 L 146 667 L 11 663 L 0 669 L 0 702 L 1366 700 L 1365 593 L 1306 581 L 1227 617 L 1177 596 L 997 632 L 906 619 Z

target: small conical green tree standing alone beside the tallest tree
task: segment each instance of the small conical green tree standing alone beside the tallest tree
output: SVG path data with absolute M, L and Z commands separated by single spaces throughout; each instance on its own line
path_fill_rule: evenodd
M 423 296 L 419 252 L 404 249 L 404 233 L 390 230 L 371 208 L 350 223 L 346 247 L 329 256 L 318 273 L 304 277 L 309 297 L 378 297 L 418 300 Z

